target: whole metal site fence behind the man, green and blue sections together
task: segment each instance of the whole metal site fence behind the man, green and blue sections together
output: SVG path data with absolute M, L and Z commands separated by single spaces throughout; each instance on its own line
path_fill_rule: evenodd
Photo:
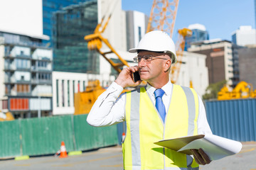
M 206 113 L 213 134 L 241 142 L 256 141 L 256 98 L 206 101 Z M 61 141 L 68 152 L 121 143 L 124 123 L 94 128 L 86 118 L 63 115 L 0 122 L 0 157 L 55 154 Z

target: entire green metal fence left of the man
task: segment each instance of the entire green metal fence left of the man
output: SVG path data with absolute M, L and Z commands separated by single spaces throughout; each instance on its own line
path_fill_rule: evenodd
M 94 128 L 87 115 L 63 115 L 0 122 L 0 157 L 55 154 L 65 142 L 67 152 L 118 144 L 117 125 Z

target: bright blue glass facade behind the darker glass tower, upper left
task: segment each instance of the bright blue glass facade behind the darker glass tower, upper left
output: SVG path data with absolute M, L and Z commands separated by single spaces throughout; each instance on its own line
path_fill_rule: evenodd
M 70 6 L 72 4 L 79 4 L 80 2 L 85 2 L 88 0 L 43 0 L 43 35 L 48 35 L 52 37 L 53 28 L 53 12 L 58 11 L 65 6 Z M 49 42 L 44 40 L 44 42 Z M 52 44 L 50 43 L 50 47 Z

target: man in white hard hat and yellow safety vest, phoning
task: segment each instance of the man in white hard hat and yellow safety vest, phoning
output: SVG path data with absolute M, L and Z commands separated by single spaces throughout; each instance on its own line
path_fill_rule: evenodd
M 87 123 L 93 126 L 127 123 L 122 144 L 124 169 L 198 169 L 209 164 L 202 149 L 192 149 L 193 157 L 154 145 L 175 137 L 211 133 L 201 98 L 193 89 L 171 84 L 171 64 L 177 59 L 175 45 L 160 30 L 146 33 L 137 48 L 137 66 L 122 70 L 117 79 L 92 107 Z M 139 72 L 140 79 L 133 80 Z M 147 82 L 145 87 L 118 98 L 127 86 Z M 197 163 L 198 164 L 197 164 Z

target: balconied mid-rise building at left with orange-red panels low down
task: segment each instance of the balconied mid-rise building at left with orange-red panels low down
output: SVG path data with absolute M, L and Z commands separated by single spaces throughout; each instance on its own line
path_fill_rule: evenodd
M 53 52 L 42 38 L 0 32 L 0 100 L 15 118 L 52 114 Z

